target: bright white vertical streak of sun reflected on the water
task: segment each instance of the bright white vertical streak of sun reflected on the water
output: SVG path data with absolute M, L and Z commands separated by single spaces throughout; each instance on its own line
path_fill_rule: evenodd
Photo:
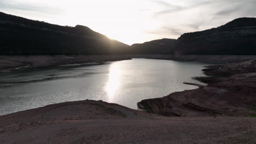
M 112 103 L 115 92 L 119 87 L 120 69 L 117 64 L 110 65 L 108 82 L 106 85 L 106 92 L 108 94 L 109 102 Z

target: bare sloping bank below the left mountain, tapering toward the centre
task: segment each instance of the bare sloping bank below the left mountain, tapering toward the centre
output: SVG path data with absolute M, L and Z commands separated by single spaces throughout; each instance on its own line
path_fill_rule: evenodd
M 19 68 L 40 68 L 65 64 L 103 63 L 107 61 L 121 61 L 131 59 L 127 55 L 78 55 L 78 56 L 0 56 L 0 70 L 2 72 Z

